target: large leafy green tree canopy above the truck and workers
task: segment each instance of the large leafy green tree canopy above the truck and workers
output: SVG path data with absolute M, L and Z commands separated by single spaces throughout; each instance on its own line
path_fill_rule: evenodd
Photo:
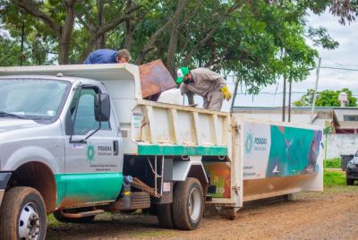
M 355 1 L 2 0 L 0 64 L 81 64 L 97 48 L 127 48 L 134 63 L 162 59 L 169 71 L 205 66 L 235 74 L 257 93 L 280 76 L 303 81 L 318 52 L 338 43 L 313 29 L 309 11 L 354 21 Z M 25 49 L 21 53 L 21 27 Z M 11 56 L 11 57 L 8 57 Z

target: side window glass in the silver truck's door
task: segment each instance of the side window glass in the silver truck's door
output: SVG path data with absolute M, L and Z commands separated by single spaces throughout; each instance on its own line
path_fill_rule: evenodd
M 85 135 L 91 130 L 96 130 L 98 128 L 99 122 L 96 121 L 94 112 L 95 96 L 96 91 L 94 89 L 81 90 L 73 128 L 74 134 Z M 77 98 L 75 97 L 72 101 L 77 102 Z M 74 109 L 71 112 L 72 120 L 74 120 Z M 101 130 L 110 129 L 109 122 L 102 122 L 101 125 Z

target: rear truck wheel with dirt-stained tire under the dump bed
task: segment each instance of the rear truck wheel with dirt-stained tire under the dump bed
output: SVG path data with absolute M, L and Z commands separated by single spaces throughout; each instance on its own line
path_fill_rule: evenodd
M 198 179 L 188 177 L 175 185 L 173 217 L 175 227 L 193 230 L 199 227 L 204 210 L 204 197 Z

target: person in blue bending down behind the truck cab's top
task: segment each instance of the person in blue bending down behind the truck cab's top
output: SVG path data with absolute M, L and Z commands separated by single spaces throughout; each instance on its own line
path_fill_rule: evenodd
M 83 64 L 128 64 L 129 61 L 131 54 L 127 49 L 98 49 L 91 52 Z

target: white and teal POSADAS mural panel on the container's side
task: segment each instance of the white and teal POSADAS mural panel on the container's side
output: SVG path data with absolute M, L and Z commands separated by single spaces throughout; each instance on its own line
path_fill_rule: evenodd
M 321 171 L 322 158 L 320 130 L 244 123 L 244 180 L 315 174 Z

